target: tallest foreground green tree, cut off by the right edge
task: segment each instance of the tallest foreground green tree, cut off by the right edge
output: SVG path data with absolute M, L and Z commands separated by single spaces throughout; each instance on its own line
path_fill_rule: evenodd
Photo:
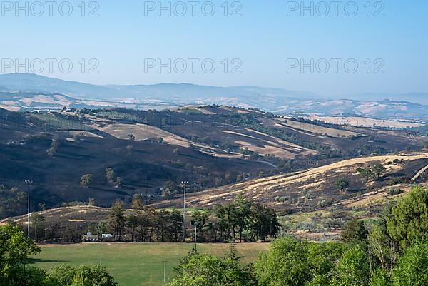
M 387 230 L 402 250 L 428 238 L 428 188 L 414 187 L 392 208 Z

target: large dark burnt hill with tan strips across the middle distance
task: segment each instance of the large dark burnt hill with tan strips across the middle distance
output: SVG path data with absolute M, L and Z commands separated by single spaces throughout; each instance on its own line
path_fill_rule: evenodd
M 86 202 L 147 203 L 183 191 L 239 183 L 334 163 L 361 155 L 422 150 L 424 136 L 409 131 L 335 126 L 226 106 L 165 111 L 68 109 L 0 110 L 2 216 L 26 211 L 24 180 L 34 185 L 32 209 Z M 111 168 L 113 175 L 107 176 Z M 91 175 L 89 184 L 81 183 Z

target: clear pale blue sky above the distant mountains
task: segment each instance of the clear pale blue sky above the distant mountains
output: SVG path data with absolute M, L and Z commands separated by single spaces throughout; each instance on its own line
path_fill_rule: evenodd
M 14 1 L 13 1 L 14 2 Z M 188 9 L 184 16 L 183 6 L 171 2 L 171 16 L 168 11 L 153 8 L 145 1 L 111 1 L 98 2 L 97 7 L 91 1 L 84 2 L 85 16 L 81 16 L 81 1 L 71 1 L 73 12 L 68 13 L 68 6 L 58 1 L 49 16 L 49 6 L 44 5 L 41 16 L 40 7 L 29 1 L 28 13 L 25 9 L 16 11 L 16 7 L 2 2 L 1 23 L 1 59 L 3 73 L 13 72 L 9 58 L 19 58 L 25 62 L 28 58 L 69 58 L 73 63 L 71 73 L 63 73 L 54 63 L 53 73 L 49 73 L 46 63 L 46 76 L 54 76 L 73 81 L 101 84 L 135 84 L 188 82 L 215 86 L 256 85 L 303 90 L 333 96 L 351 96 L 357 93 L 409 93 L 428 92 L 427 84 L 427 1 L 387 0 L 368 2 L 371 6 L 367 16 L 367 1 L 355 1 L 358 7 L 356 16 L 350 1 L 338 4 L 337 16 L 331 1 L 330 13 L 325 14 L 325 5 L 313 1 L 314 16 L 311 11 L 303 11 L 301 16 L 297 2 L 279 0 L 241 2 L 228 1 L 228 16 L 225 16 L 224 2 L 213 1 L 215 13 L 210 14 L 210 4 L 199 1 L 195 4 L 195 16 L 192 5 L 184 1 Z M 298 1 L 298 5 L 300 6 Z M 25 1 L 18 2 L 21 6 Z M 44 3 L 44 1 L 42 1 Z M 91 4 L 90 4 L 91 3 Z M 158 6 L 158 1 L 153 2 Z M 152 4 L 153 4 L 152 3 Z M 168 1 L 160 2 L 163 6 Z M 303 1 L 310 6 L 311 1 Z M 325 3 L 325 2 L 324 2 Z M 222 6 L 223 4 L 223 6 Z M 145 9 L 146 6 L 146 9 Z M 347 11 L 345 12 L 345 6 Z M 99 16 L 88 16 L 96 9 Z M 231 16 L 238 9 L 241 16 Z M 295 11 L 297 9 L 297 11 Z M 19 15 L 16 16 L 16 13 Z M 145 15 L 147 14 L 147 16 Z M 287 15 L 289 14 L 289 15 Z M 374 16 L 384 14 L 384 16 Z M 88 73 L 88 67 L 81 73 L 81 58 L 86 62 L 96 58 L 99 62 L 98 74 Z M 183 58 L 188 67 L 184 73 L 180 62 L 168 73 L 162 68 L 148 68 L 145 71 L 145 59 L 161 58 L 163 63 Z M 195 73 L 192 73 L 188 58 L 198 58 Z M 204 72 L 201 62 L 212 59 L 216 64 L 213 73 Z M 228 72 L 223 71 L 227 58 Z M 301 73 L 300 68 L 287 71 L 287 59 L 303 58 L 305 63 L 314 63 L 325 58 L 330 62 L 326 73 L 325 61 L 318 61 L 314 73 L 310 67 Z M 332 58 L 340 58 L 338 70 Z M 367 73 L 367 58 L 370 59 L 370 72 Z M 238 59 L 238 61 L 233 61 Z M 355 59 L 358 69 L 355 73 L 345 71 L 347 59 Z M 375 61 L 379 59 L 378 61 Z M 223 64 L 222 64 L 223 62 Z M 350 70 L 354 61 L 350 61 Z M 29 71 L 39 68 L 34 61 Z M 208 62 L 209 63 L 209 62 Z M 242 63 L 238 71 L 231 69 Z M 384 66 L 383 66 L 384 65 Z M 379 66 L 379 71 L 374 73 Z M 209 69 L 209 65 L 208 65 Z M 23 69 L 21 68 L 21 72 Z

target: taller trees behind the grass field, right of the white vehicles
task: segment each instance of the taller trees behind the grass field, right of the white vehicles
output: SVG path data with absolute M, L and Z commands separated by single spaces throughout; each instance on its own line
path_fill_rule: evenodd
M 132 242 L 183 241 L 183 213 L 155 210 L 143 204 L 141 195 L 133 196 L 133 211 L 126 215 L 122 202 L 111 208 L 108 227 L 114 235 L 131 235 Z M 280 224 L 275 210 L 238 196 L 233 202 L 217 205 L 213 211 L 192 210 L 186 214 L 185 233 L 196 226 L 202 242 L 254 242 L 275 238 Z M 99 230 L 96 233 L 100 233 Z M 186 235 L 186 238 L 188 235 Z

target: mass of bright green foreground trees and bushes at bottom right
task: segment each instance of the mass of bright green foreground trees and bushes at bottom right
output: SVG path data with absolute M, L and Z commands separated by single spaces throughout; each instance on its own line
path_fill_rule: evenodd
M 426 286 L 427 225 L 428 189 L 415 187 L 374 225 L 348 223 L 344 242 L 280 238 L 246 268 L 198 255 L 185 260 L 171 285 Z M 255 278 L 242 280 L 248 273 Z

